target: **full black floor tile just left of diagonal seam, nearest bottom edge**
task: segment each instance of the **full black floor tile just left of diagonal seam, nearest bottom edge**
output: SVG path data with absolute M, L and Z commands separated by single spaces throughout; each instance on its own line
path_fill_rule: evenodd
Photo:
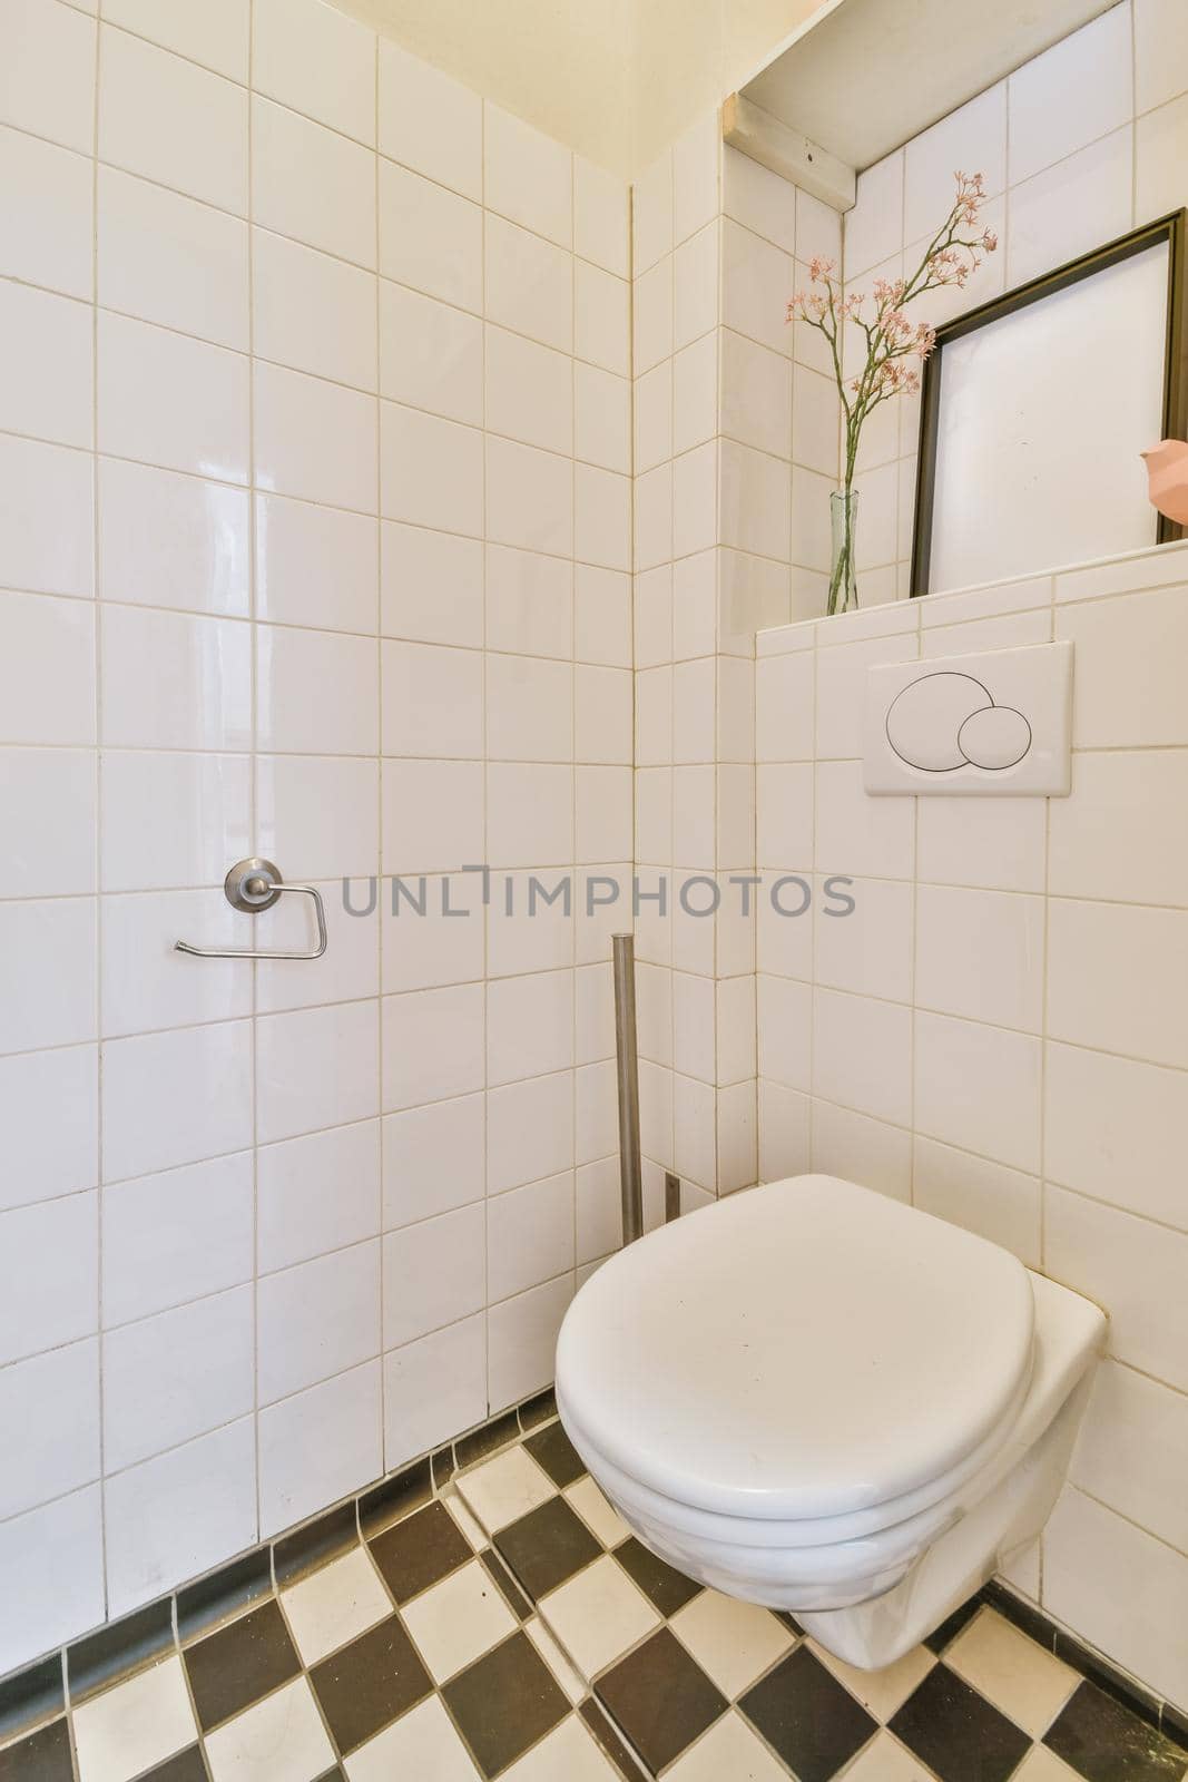
M 447 1682 L 442 1695 L 484 1777 L 506 1770 L 570 1711 L 527 1634 L 511 1634 Z

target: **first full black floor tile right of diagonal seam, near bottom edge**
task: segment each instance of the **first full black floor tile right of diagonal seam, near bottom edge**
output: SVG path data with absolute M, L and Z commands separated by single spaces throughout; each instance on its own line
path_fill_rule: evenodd
M 657 1773 L 728 1707 L 725 1695 L 666 1627 L 606 1672 L 595 1695 Z

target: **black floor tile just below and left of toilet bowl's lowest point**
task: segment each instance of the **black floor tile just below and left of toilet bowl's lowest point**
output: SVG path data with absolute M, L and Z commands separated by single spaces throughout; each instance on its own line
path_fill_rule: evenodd
M 809 1647 L 789 1652 L 739 1707 L 798 1782 L 830 1782 L 876 1730 L 862 1704 Z

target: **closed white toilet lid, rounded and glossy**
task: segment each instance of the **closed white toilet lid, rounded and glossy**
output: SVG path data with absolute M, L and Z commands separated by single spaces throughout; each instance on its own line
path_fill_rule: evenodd
M 557 1340 L 616 1467 L 725 1515 L 832 1516 L 940 1479 L 1031 1369 L 1022 1263 L 837 1176 L 718 1201 L 620 1251 Z

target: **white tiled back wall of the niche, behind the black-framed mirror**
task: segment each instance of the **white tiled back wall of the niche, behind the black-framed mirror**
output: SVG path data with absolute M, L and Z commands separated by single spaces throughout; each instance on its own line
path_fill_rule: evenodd
M 858 176 L 844 274 L 912 269 L 953 201 L 953 171 L 981 171 L 999 237 L 965 292 L 915 308 L 942 323 L 1188 203 L 1188 52 L 1177 0 L 1122 0 Z M 914 310 L 915 314 L 915 310 Z M 864 606 L 905 599 L 919 399 L 889 403 L 860 451 Z

